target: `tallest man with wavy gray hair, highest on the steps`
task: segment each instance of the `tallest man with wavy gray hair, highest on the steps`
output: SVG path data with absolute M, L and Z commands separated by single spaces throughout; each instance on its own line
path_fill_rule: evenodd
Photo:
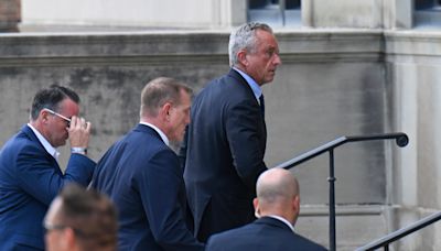
M 227 75 L 195 98 L 180 157 L 198 240 L 254 218 L 259 174 L 267 170 L 265 103 L 261 86 L 281 64 L 270 26 L 246 23 L 229 37 Z

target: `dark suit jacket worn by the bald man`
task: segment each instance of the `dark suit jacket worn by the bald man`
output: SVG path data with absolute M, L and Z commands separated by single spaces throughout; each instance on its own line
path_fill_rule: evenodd
M 282 221 L 262 217 L 252 223 L 212 236 L 206 251 L 323 251 L 326 250 L 294 232 Z

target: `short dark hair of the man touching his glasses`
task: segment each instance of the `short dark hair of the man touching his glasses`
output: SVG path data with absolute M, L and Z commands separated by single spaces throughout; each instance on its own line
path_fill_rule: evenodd
M 31 106 L 31 119 L 36 120 L 42 109 L 49 108 L 58 111 L 60 103 L 64 99 L 72 99 L 72 101 L 79 103 L 78 95 L 68 87 L 52 85 L 49 88 L 41 89 L 35 94 Z

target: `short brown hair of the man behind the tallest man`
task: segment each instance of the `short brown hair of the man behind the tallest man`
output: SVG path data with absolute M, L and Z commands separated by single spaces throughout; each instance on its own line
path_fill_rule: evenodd
M 158 109 L 165 102 L 180 105 L 181 90 L 190 96 L 193 95 L 192 88 L 174 78 L 159 77 L 149 81 L 141 92 L 141 117 L 143 114 L 157 117 Z

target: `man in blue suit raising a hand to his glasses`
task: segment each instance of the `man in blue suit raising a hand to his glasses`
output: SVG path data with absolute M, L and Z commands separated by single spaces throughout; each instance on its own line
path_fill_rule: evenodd
M 44 250 L 42 220 L 69 182 L 86 186 L 95 162 L 87 157 L 90 123 L 79 118 L 78 95 L 51 86 L 32 102 L 30 122 L 0 151 L 0 250 Z M 69 140 L 63 173 L 56 148 Z

